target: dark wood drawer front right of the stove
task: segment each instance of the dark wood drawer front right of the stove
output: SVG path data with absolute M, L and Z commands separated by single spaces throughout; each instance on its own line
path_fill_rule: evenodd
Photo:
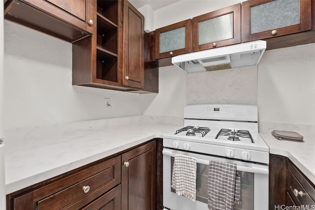
M 288 171 L 288 191 L 291 197 L 302 205 L 315 205 L 314 186 L 293 165 L 289 165 Z

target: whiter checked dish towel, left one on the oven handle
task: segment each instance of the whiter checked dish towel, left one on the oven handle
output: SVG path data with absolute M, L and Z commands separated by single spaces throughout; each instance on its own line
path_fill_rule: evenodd
M 196 170 L 195 157 L 174 154 L 171 187 L 175 189 L 177 195 L 196 200 Z

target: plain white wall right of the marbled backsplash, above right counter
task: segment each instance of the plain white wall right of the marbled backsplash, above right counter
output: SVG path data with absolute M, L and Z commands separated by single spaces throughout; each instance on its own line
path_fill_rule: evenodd
M 266 51 L 257 89 L 261 122 L 315 125 L 315 44 Z

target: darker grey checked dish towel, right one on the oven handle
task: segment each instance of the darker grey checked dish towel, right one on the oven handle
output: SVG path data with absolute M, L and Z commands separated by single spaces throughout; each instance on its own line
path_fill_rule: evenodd
M 210 161 L 208 176 L 208 208 L 233 210 L 241 202 L 241 176 L 236 164 Z

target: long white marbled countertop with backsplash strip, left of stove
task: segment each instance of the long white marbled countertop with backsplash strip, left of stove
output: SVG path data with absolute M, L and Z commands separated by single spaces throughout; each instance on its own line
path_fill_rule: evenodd
M 5 131 L 5 192 L 23 189 L 163 133 L 181 120 L 154 122 L 142 116 Z M 167 124 L 175 123 L 175 124 Z

